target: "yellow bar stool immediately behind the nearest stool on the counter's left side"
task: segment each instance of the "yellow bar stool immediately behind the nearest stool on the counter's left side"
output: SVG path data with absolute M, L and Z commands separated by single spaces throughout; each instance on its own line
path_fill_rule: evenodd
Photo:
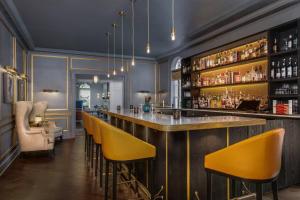
M 94 130 L 93 134 L 93 141 L 96 144 L 96 160 L 95 160 L 95 176 L 97 176 L 97 171 L 98 171 L 98 158 L 100 154 L 100 187 L 102 187 L 102 176 L 103 176 L 103 154 L 101 151 L 101 129 L 100 126 L 98 125 L 98 119 L 97 117 L 91 116 L 91 122 L 92 122 L 92 127 Z

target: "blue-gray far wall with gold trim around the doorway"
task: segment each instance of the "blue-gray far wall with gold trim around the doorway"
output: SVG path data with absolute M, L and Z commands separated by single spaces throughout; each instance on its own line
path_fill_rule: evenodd
M 112 60 L 111 60 L 112 63 Z M 125 66 L 129 64 L 125 60 Z M 121 60 L 116 60 L 121 66 Z M 106 74 L 107 57 L 86 55 L 57 54 L 47 52 L 30 52 L 31 87 L 30 98 L 36 101 L 46 100 L 49 103 L 47 119 L 54 120 L 64 128 L 65 137 L 73 137 L 75 129 L 75 100 L 77 74 Z M 119 75 L 124 80 L 124 105 L 138 105 L 143 97 L 139 90 L 149 90 L 155 102 L 158 87 L 156 82 L 157 64 L 155 61 L 137 59 L 134 67 Z M 111 65 L 111 72 L 112 72 Z M 118 67 L 120 69 L 120 67 Z M 43 93 L 43 89 L 56 89 L 59 93 Z

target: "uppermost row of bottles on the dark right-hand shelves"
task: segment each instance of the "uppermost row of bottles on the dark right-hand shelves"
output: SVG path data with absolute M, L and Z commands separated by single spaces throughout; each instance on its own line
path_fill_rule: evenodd
M 275 36 L 273 39 L 273 53 L 281 51 L 290 51 L 298 48 L 298 33 L 290 33 L 285 37 Z

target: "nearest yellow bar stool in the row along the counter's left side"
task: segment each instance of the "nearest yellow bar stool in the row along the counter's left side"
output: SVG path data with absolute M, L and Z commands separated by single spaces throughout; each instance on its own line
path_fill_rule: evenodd
M 105 163 L 105 200 L 108 199 L 109 163 L 113 165 L 113 200 L 117 199 L 117 164 L 150 160 L 150 196 L 153 195 L 155 146 L 146 143 L 125 131 L 99 120 L 101 128 L 102 152 Z

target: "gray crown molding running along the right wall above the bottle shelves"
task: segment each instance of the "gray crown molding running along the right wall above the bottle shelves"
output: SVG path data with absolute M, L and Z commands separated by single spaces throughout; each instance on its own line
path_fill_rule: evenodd
M 246 16 L 240 16 L 238 18 L 238 20 L 234 20 L 234 21 L 232 19 L 227 19 L 230 21 L 224 20 L 222 22 L 223 26 L 221 26 L 218 29 L 214 28 L 216 26 L 216 24 L 210 23 L 207 26 L 198 30 L 197 33 L 194 32 L 194 33 L 190 34 L 190 38 L 192 38 L 192 39 L 186 40 L 184 42 L 185 44 L 181 45 L 179 48 L 175 48 L 167 53 L 162 54 L 161 56 L 156 57 L 156 59 L 159 63 L 165 62 L 170 57 L 174 57 L 180 53 L 183 53 L 184 50 L 187 50 L 189 48 L 200 45 L 204 42 L 207 42 L 208 40 L 212 40 L 220 35 L 230 32 L 234 29 L 238 29 L 241 26 L 246 26 L 247 24 L 258 21 L 259 19 L 270 16 L 276 12 L 279 12 L 283 9 L 286 9 L 288 7 L 294 6 L 299 3 L 300 3 L 299 0 L 275 1 L 274 3 L 264 6 L 261 9 L 257 9 L 255 12 L 249 13 Z M 238 13 L 238 15 L 240 15 L 240 13 Z M 233 17 L 233 16 L 231 16 L 231 17 Z M 229 23 L 229 22 L 231 22 L 231 23 Z M 190 55 L 183 55 L 183 56 L 190 56 Z

